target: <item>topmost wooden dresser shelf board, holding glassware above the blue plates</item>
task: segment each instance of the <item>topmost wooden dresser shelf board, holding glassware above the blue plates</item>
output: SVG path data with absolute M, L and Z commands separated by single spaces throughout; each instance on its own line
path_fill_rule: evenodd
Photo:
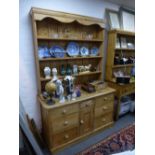
M 75 39 L 75 38 L 49 38 L 37 37 L 38 40 L 51 40 L 51 41 L 81 41 L 81 42 L 103 42 L 103 39 Z

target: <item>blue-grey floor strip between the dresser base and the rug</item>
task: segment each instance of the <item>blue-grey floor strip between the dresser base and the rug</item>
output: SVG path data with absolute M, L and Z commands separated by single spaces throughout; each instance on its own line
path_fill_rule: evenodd
M 119 131 L 120 129 L 128 126 L 129 124 L 135 122 L 135 116 L 134 114 L 126 114 L 119 118 L 118 121 L 115 122 L 114 126 L 104 130 L 103 132 L 100 132 L 99 134 L 95 136 L 91 136 L 85 141 L 82 141 L 80 143 L 71 145 L 68 148 L 65 148 L 61 152 L 58 152 L 56 155 L 75 155 L 76 153 L 85 150 L 89 146 L 96 144 L 97 142 L 103 140 L 107 136 L 110 136 L 111 134 Z

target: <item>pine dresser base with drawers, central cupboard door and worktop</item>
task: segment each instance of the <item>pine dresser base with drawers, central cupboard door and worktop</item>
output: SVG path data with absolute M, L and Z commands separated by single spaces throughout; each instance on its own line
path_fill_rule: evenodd
M 47 105 L 40 98 L 44 139 L 52 151 L 80 142 L 114 123 L 114 92 L 107 87 L 95 93 L 82 93 L 75 101 Z

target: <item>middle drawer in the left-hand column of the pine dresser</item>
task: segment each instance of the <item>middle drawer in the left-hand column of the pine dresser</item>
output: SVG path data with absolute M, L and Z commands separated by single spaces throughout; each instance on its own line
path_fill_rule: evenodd
M 71 114 L 62 118 L 57 118 L 51 121 L 51 130 L 53 133 L 58 133 L 69 128 L 77 127 L 79 124 L 79 114 Z

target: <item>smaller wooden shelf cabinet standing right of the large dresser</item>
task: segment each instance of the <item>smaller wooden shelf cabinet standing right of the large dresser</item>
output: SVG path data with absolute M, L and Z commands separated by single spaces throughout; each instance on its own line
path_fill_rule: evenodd
M 123 40 L 121 40 L 123 39 Z M 125 39 L 125 41 L 124 41 Z M 128 44 L 127 44 L 128 43 Z M 132 46 L 131 46 L 132 45 Z M 116 107 L 116 120 L 119 117 L 120 104 L 122 96 L 129 95 L 135 92 L 135 82 L 130 79 L 129 84 L 118 84 L 114 77 L 114 72 L 122 71 L 126 75 L 131 74 L 131 68 L 135 66 L 134 63 L 117 64 L 115 57 L 130 58 L 135 57 L 135 33 L 124 30 L 110 30 L 108 32 L 108 51 L 106 62 L 106 81 L 108 85 L 116 89 L 115 96 L 118 100 Z

